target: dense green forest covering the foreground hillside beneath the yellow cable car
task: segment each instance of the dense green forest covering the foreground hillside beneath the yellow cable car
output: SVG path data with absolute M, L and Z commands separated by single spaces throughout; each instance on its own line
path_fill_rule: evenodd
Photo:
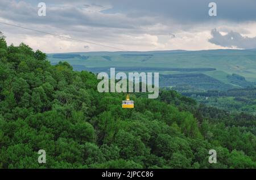
M 0 168 L 256 168 L 255 116 L 163 90 L 156 100 L 131 95 L 135 108 L 122 109 L 126 95 L 97 83 L 1 37 Z

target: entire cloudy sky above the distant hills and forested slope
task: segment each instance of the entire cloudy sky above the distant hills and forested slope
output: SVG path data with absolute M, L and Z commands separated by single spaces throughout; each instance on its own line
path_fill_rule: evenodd
M 39 2 L 46 3 L 46 16 L 38 16 Z M 217 16 L 209 16 L 210 2 L 217 4 Z M 256 1 L 0 0 L 0 31 L 9 44 L 24 42 L 46 53 L 117 51 L 106 46 L 139 51 L 254 49 Z

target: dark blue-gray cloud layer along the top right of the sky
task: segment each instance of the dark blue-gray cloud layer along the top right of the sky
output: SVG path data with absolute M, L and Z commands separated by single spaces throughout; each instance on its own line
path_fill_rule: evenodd
M 161 16 L 164 19 L 175 19 L 179 22 L 209 21 L 208 5 L 217 4 L 218 20 L 241 22 L 256 20 L 256 1 L 246 0 L 103 0 L 113 8 L 105 12 L 124 12 L 129 16 Z M 102 2 L 102 1 L 100 1 Z

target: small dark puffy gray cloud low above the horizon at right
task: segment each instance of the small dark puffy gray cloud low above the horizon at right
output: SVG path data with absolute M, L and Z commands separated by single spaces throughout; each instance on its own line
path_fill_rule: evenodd
M 230 31 L 226 35 L 221 35 L 217 29 L 212 29 L 212 38 L 209 42 L 228 48 L 254 49 L 256 48 L 256 37 L 242 36 L 238 32 Z

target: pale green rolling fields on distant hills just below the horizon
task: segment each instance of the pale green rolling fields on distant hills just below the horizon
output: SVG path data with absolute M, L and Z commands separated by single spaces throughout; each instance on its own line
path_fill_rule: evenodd
M 159 72 L 162 86 L 189 85 L 197 91 L 246 88 L 256 82 L 256 50 L 63 53 L 48 54 L 48 59 L 53 65 L 67 61 L 74 70 L 94 73 L 109 72 L 110 67 L 123 72 Z M 190 80 L 180 78 L 173 82 L 173 78 L 163 76 L 170 74 L 186 74 Z M 198 75 L 196 81 L 194 74 Z

